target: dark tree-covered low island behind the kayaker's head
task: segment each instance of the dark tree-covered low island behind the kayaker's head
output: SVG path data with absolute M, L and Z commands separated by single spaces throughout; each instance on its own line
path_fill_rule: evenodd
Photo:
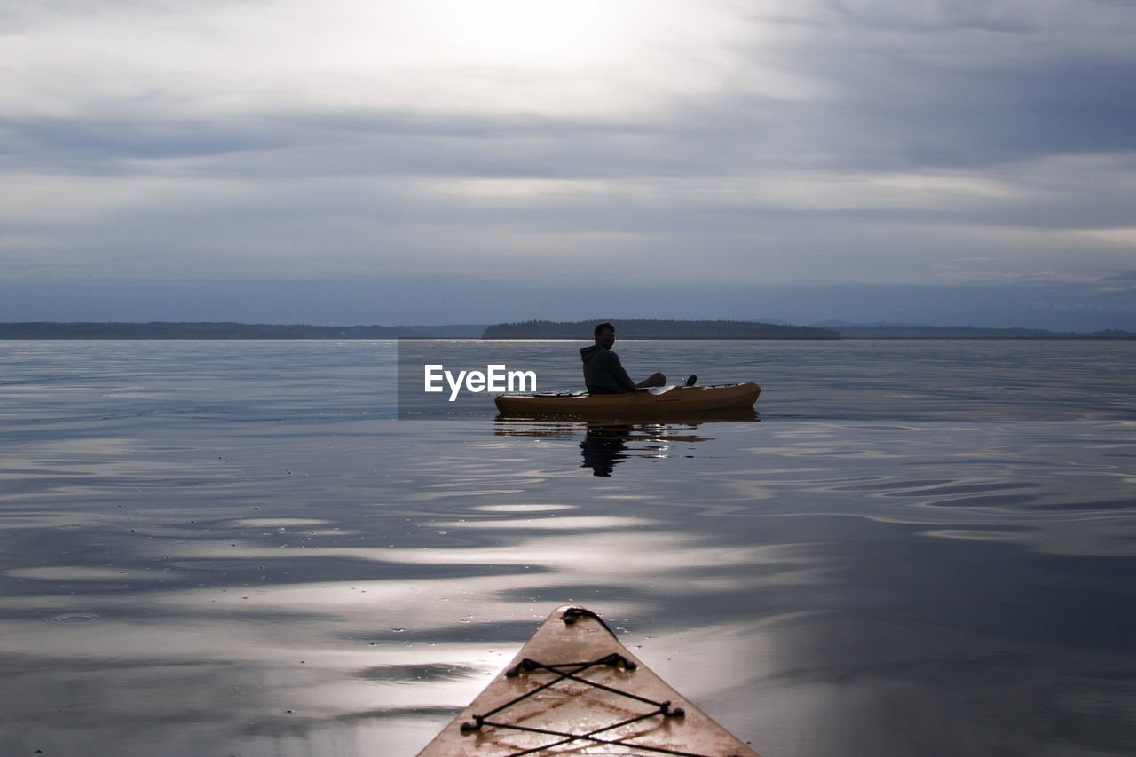
M 488 326 L 482 339 L 592 339 L 599 321 L 525 321 Z M 749 321 L 612 321 L 620 339 L 840 339 L 829 328 Z

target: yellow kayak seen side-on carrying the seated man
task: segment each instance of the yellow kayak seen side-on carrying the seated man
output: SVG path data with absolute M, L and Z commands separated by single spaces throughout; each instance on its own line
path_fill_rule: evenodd
M 753 382 L 719 386 L 658 386 L 626 394 L 543 392 L 498 394 L 502 415 L 516 416 L 653 416 L 712 413 L 752 407 L 761 394 Z

